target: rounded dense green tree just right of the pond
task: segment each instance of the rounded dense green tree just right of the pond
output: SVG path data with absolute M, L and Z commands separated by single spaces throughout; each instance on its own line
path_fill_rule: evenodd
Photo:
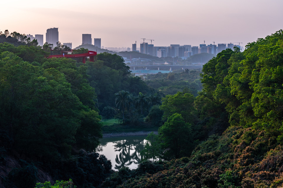
M 167 122 L 158 129 L 162 140 L 164 156 L 167 158 L 180 158 L 188 156 L 191 152 L 190 144 L 191 125 L 183 117 L 175 113 L 168 117 Z

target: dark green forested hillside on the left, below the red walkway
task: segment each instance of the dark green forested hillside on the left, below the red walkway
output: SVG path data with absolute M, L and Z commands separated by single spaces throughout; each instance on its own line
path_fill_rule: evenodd
M 131 76 L 116 54 L 101 53 L 83 64 L 47 59 L 50 44 L 41 48 L 24 34 L 6 30 L 0 39 L 0 186 L 69 179 L 79 187 L 101 184 L 112 172 L 111 162 L 94 151 L 102 137 L 102 117 L 122 119 L 116 94 L 158 95 Z M 60 53 L 62 47 L 58 43 L 54 49 Z M 134 115 L 125 112 L 129 126 L 149 108 L 133 104 Z

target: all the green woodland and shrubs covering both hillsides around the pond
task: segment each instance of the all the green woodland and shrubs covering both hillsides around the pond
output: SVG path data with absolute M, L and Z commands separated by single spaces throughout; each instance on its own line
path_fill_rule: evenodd
M 199 81 L 199 70 L 143 81 L 116 54 L 85 64 L 47 55 L 37 45 L 0 43 L 4 187 L 69 179 L 78 187 L 283 186 L 282 30 L 243 52 L 218 53 Z M 113 172 L 93 152 L 103 117 L 158 128 L 137 169 Z

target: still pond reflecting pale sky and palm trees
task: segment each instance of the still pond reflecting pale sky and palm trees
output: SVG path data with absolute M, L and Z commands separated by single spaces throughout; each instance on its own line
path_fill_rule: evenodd
M 111 160 L 112 169 L 119 170 L 121 167 L 135 169 L 138 167 L 144 149 L 145 138 L 147 136 L 125 136 L 100 139 L 100 145 L 96 152 L 105 155 Z

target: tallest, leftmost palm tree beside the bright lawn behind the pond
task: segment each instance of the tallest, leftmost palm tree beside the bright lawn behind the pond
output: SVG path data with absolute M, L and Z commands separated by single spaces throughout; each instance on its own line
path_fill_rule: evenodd
M 124 111 L 129 108 L 130 93 L 129 93 L 129 91 L 121 90 L 121 91 L 115 93 L 115 96 L 116 96 L 115 104 L 116 104 L 117 108 L 119 108 L 119 110 L 122 110 L 123 123 L 124 123 L 124 121 L 125 121 Z

